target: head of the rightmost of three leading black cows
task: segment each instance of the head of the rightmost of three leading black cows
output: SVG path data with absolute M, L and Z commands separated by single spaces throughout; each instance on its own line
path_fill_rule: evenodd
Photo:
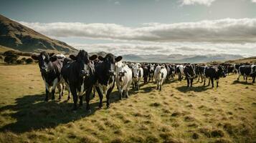
M 113 54 L 107 54 L 104 58 L 103 56 L 98 56 L 100 61 L 104 62 L 104 70 L 107 72 L 108 76 L 115 75 L 115 63 L 123 59 L 122 56 L 118 56 L 115 58 Z

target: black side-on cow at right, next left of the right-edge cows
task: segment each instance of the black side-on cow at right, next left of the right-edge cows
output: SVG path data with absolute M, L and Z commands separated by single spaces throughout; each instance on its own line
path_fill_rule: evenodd
M 220 77 L 226 77 L 223 66 L 206 66 L 204 68 L 204 85 L 207 78 L 209 78 L 208 86 L 210 84 L 210 81 L 212 81 L 212 87 L 214 87 L 214 79 L 216 79 L 217 87 L 219 87 Z

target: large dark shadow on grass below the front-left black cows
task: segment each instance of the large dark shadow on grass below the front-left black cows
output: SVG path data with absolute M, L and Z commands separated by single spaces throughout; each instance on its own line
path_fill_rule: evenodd
M 119 93 L 110 95 L 110 102 L 118 102 Z M 83 117 L 88 117 L 98 110 L 99 100 L 90 101 L 91 113 L 85 109 L 85 102 L 77 112 L 72 112 L 73 102 L 43 102 L 44 94 L 26 95 L 16 99 L 16 103 L 0 108 L 1 116 L 16 119 L 16 122 L 6 124 L 0 128 L 1 132 L 11 131 L 16 133 L 29 132 L 34 129 L 57 127 Z M 105 97 L 103 97 L 105 101 Z M 103 102 L 105 109 L 105 102 Z

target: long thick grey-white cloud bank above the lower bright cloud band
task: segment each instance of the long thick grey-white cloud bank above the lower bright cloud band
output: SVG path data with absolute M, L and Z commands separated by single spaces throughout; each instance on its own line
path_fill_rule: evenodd
M 47 36 L 119 41 L 193 41 L 247 43 L 256 41 L 256 19 L 219 19 L 174 24 L 149 23 L 138 27 L 103 23 L 20 22 Z

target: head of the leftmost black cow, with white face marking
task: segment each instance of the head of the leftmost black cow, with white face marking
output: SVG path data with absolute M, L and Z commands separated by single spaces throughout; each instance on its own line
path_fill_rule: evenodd
M 38 61 L 38 65 L 40 68 L 40 71 L 42 73 L 49 72 L 49 62 L 50 58 L 54 55 L 54 53 L 48 54 L 46 51 L 42 51 L 39 55 L 32 54 L 32 59 Z

